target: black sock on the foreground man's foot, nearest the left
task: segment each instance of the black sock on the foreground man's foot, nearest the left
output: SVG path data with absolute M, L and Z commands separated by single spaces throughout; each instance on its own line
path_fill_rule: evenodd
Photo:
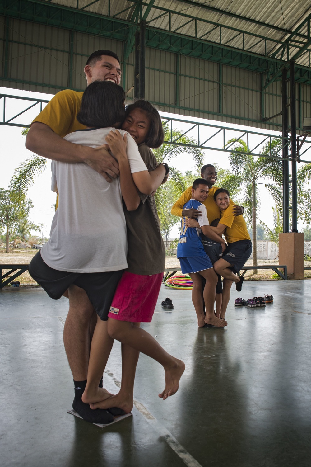
M 90 404 L 85 404 L 82 402 L 82 394 L 84 392 L 86 386 L 85 381 L 75 381 L 75 398 L 72 403 L 72 408 L 76 410 L 76 412 L 83 418 L 90 423 L 102 423 L 107 424 L 113 422 L 113 416 L 108 410 L 104 409 L 95 409 L 92 410 L 90 408 Z

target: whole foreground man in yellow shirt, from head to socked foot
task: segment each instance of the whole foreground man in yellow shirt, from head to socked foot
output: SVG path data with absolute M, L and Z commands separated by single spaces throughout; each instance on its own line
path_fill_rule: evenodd
M 97 50 L 88 58 L 84 73 L 87 85 L 97 80 L 111 81 L 119 85 L 120 60 L 111 50 Z M 86 128 L 76 120 L 82 96 L 83 92 L 71 89 L 57 92 L 32 122 L 26 139 L 26 148 L 54 161 L 87 163 L 108 182 L 112 182 L 113 178 L 118 177 L 119 168 L 117 161 L 108 153 L 105 146 L 91 148 L 63 139 L 69 133 Z M 102 409 L 91 410 L 89 404 L 83 404 L 81 399 L 86 385 L 90 339 L 95 325 L 92 324 L 94 309 L 83 289 L 72 285 L 68 294 L 69 312 L 64 325 L 64 347 L 75 383 L 75 399 L 84 412 L 88 410 L 90 418 L 91 412 L 98 410 L 106 412 Z M 83 416 L 80 411 L 79 414 Z M 111 415 L 108 414 L 108 417 Z

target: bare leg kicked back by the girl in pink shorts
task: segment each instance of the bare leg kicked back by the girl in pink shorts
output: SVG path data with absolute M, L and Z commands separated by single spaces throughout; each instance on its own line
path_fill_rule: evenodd
M 149 333 L 128 321 L 108 318 L 108 333 L 112 339 L 148 355 L 163 366 L 166 384 L 159 397 L 166 399 L 177 392 L 180 377 L 185 370 L 183 361 L 168 354 Z

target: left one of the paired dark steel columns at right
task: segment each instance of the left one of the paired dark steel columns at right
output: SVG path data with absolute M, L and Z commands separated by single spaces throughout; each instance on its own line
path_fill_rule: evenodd
M 287 108 L 287 69 L 282 71 L 282 136 L 288 137 L 288 108 Z M 282 149 L 282 171 L 283 171 L 283 232 L 290 231 L 290 213 L 289 213 L 289 168 L 288 168 L 288 145 L 283 145 Z

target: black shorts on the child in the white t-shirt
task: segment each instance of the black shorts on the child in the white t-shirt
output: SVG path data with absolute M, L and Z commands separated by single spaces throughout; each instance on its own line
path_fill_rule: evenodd
M 112 298 L 124 269 L 90 273 L 57 271 L 42 260 L 38 251 L 29 264 L 28 272 L 55 300 L 61 298 L 71 284 L 85 290 L 99 318 L 107 321 Z

